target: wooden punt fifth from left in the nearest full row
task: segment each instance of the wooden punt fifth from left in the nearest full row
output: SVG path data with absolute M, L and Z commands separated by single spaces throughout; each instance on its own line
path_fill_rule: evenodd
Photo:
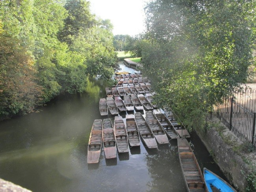
M 135 113 L 134 116 L 139 130 L 139 134 L 141 135 L 141 140 L 148 148 L 157 148 L 156 139 L 145 118 L 142 116 L 141 113 Z

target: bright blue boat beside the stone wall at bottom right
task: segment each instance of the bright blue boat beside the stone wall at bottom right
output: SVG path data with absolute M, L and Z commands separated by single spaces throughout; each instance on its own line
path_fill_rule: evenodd
M 221 177 L 206 168 L 204 168 L 204 182 L 208 192 L 237 192 Z

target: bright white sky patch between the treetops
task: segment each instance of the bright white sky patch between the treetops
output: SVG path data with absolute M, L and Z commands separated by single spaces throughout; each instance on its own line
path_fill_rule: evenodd
M 138 35 L 145 30 L 144 6 L 150 0 L 89 0 L 91 12 L 110 19 L 114 35 Z

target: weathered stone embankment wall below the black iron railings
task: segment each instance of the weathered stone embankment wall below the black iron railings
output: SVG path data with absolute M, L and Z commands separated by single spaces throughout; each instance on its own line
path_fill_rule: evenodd
M 197 131 L 198 136 L 219 165 L 224 175 L 238 191 L 251 191 L 247 177 L 256 166 L 255 155 L 246 152 L 245 143 L 241 142 L 218 118 L 209 121 L 210 128 Z

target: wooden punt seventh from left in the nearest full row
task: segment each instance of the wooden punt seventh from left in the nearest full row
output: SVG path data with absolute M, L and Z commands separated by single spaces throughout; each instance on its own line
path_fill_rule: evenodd
M 161 126 L 163 127 L 163 130 L 165 131 L 168 137 L 170 137 L 171 139 L 180 138 L 180 136 L 176 132 L 176 129 L 174 129 L 169 119 L 160 110 L 154 109 L 153 113 L 156 115 L 156 118 L 160 122 Z

